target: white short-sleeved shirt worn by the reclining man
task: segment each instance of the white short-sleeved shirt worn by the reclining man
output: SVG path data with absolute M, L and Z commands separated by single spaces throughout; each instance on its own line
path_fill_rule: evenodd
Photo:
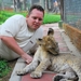
M 36 37 L 36 38 L 33 38 L 35 40 L 37 39 L 38 36 L 39 36 L 39 38 L 42 38 L 42 36 L 43 36 L 42 28 L 40 27 L 33 32 L 29 31 L 28 27 L 27 27 L 27 23 L 26 23 L 26 17 L 24 17 L 23 15 L 19 15 L 19 14 L 8 18 L 0 27 L 0 36 L 14 37 L 17 44 L 24 51 L 26 51 L 26 49 L 28 50 L 28 48 L 26 45 L 30 41 L 30 39 L 32 38 L 33 35 Z M 36 41 L 33 41 L 33 42 L 36 43 Z M 16 53 L 14 53 L 12 50 L 10 50 L 0 40 L 0 56 L 2 56 L 3 58 L 6 58 L 6 59 L 12 59 L 18 55 Z

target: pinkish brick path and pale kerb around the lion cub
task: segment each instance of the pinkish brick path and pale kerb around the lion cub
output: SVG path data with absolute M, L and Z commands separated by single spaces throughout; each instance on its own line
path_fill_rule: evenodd
M 65 30 L 60 29 L 58 27 L 57 23 L 43 25 L 44 35 L 46 35 L 46 31 L 50 27 L 52 27 L 55 30 L 54 38 L 58 42 L 60 53 L 71 53 L 71 54 L 81 56 L 80 55 L 81 53 L 72 44 L 69 37 L 65 33 Z M 16 76 L 15 71 L 19 68 L 24 68 L 25 66 L 26 66 L 26 64 L 24 63 L 24 60 L 22 58 L 19 58 L 14 67 L 14 70 L 13 70 L 9 81 L 28 81 L 27 79 L 29 79 L 29 81 L 35 81 L 33 79 L 30 79 L 29 76 L 23 76 L 23 77 Z M 45 77 L 48 78 L 50 76 L 48 75 Z M 40 80 L 40 81 L 45 81 L 45 79 L 46 79 L 45 77 L 43 78 L 44 80 Z

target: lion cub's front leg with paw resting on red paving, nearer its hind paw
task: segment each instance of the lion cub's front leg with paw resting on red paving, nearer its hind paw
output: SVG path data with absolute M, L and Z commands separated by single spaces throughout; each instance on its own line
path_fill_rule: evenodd
M 31 78 L 41 78 L 42 72 L 51 65 L 50 60 L 42 60 L 35 71 L 30 73 Z

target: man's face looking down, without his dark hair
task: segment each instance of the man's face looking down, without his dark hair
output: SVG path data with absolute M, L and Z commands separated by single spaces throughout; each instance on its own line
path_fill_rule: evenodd
M 33 9 L 31 13 L 27 16 L 27 25 L 31 30 L 36 30 L 40 27 L 43 21 L 43 12 Z

